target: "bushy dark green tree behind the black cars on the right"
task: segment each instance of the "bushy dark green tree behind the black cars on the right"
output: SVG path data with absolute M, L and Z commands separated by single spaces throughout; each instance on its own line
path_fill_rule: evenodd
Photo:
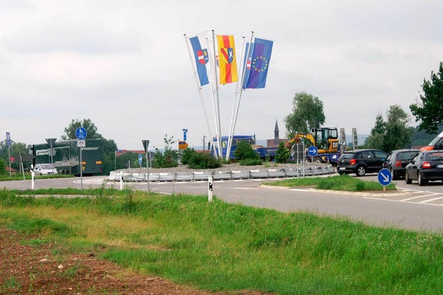
M 408 127 L 409 116 L 399 105 L 392 105 L 386 111 L 387 121 L 377 114 L 371 135 L 362 147 L 376 148 L 385 152 L 410 147 L 413 129 Z

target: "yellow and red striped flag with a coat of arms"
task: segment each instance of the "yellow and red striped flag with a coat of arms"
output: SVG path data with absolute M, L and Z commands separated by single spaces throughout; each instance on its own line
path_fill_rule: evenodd
M 228 84 L 238 80 L 237 57 L 233 35 L 217 35 L 219 49 L 220 84 Z

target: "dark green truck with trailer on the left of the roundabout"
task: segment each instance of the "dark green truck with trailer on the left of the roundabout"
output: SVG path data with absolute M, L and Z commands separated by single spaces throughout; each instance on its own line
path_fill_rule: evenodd
M 80 148 L 82 149 L 82 175 L 99 175 L 102 168 L 102 141 L 101 139 L 85 139 L 85 146 L 78 147 L 76 139 L 56 141 L 51 146 L 48 143 L 32 145 L 30 154 L 33 154 L 33 165 L 53 163 L 58 174 L 80 175 Z M 52 157 L 51 157 L 52 156 Z

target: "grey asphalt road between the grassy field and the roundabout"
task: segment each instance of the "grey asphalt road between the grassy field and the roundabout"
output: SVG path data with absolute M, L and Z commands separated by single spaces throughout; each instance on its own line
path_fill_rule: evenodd
M 104 177 L 83 177 L 82 188 L 98 188 Z M 377 181 L 377 174 L 361 177 Z M 406 184 L 394 181 L 397 193 L 338 193 L 319 192 L 309 188 L 286 188 L 262 186 L 275 179 L 245 179 L 215 181 L 213 194 L 219 199 L 235 204 L 271 208 L 283 212 L 309 211 L 318 215 L 342 216 L 377 226 L 393 226 L 443 233 L 443 183 L 435 181 L 427 186 L 417 182 Z M 147 190 L 147 183 L 124 184 L 137 190 Z M 111 186 L 107 183 L 106 186 Z M 26 189 L 30 181 L 3 181 L 0 188 Z M 35 188 L 80 188 L 80 178 L 38 179 Z M 114 184 L 120 188 L 119 183 Z M 150 190 L 163 194 L 190 193 L 208 195 L 207 181 L 156 182 Z

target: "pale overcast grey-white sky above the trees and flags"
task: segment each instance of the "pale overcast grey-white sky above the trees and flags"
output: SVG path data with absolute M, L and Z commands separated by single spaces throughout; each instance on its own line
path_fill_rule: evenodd
M 273 40 L 264 89 L 242 93 L 235 134 L 286 136 L 284 118 L 305 91 L 325 127 L 369 134 L 377 114 L 419 100 L 443 54 L 443 1 L 0 0 L 0 138 L 35 144 L 91 121 L 120 150 L 198 147 L 206 124 L 185 42 L 206 32 Z M 219 89 L 221 134 L 235 83 Z M 215 135 L 212 100 L 204 97 Z M 415 117 L 410 114 L 410 125 Z M 178 143 L 176 143 L 178 148 Z

